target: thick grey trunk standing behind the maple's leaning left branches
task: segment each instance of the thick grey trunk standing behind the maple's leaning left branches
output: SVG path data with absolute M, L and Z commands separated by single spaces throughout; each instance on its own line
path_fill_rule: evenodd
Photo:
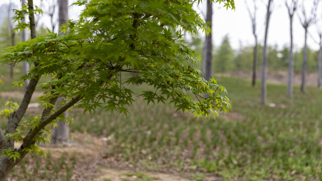
M 68 0 L 59 0 L 58 1 L 58 23 L 59 28 L 62 27 L 62 25 L 66 24 L 68 21 Z M 62 102 L 64 102 L 64 98 L 58 98 L 57 99 L 57 107 L 61 107 Z M 68 117 L 68 112 L 64 112 L 64 117 Z M 51 137 L 51 143 L 53 144 L 68 144 L 69 142 L 69 128 L 68 124 L 64 124 L 64 122 L 60 121 L 57 123 L 57 127 L 54 128 L 52 132 Z

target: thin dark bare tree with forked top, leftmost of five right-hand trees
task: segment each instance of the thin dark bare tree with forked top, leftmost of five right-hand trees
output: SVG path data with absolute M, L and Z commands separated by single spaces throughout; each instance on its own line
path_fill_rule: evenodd
M 257 16 L 257 4 L 256 4 L 256 0 L 253 0 L 253 5 L 254 5 L 254 9 L 253 9 L 253 13 L 247 3 L 247 1 L 245 1 L 248 13 L 250 15 L 251 21 L 252 21 L 252 30 L 253 30 L 253 35 L 254 35 L 254 39 L 255 39 L 255 46 L 254 46 L 254 57 L 253 57 L 253 76 L 252 76 L 252 85 L 255 86 L 256 84 L 256 77 L 257 77 L 257 62 L 258 62 L 258 51 L 257 51 L 257 47 L 258 47 L 258 40 L 257 40 L 257 21 L 256 21 L 256 16 Z

